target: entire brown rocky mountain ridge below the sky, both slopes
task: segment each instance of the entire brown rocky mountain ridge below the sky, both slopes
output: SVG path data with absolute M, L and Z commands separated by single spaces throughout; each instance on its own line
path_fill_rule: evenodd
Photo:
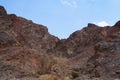
M 0 6 L 0 80 L 58 79 L 119 80 L 120 21 L 105 27 L 89 23 L 60 40 Z

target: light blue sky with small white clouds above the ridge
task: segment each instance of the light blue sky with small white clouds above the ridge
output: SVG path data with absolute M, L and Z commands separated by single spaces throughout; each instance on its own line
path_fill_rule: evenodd
M 104 26 L 120 20 L 120 0 L 0 0 L 0 5 L 9 14 L 47 26 L 59 38 L 88 23 Z

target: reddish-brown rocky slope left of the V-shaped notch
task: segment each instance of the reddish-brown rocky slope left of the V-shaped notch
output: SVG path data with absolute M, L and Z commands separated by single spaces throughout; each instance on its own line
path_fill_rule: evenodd
M 58 40 L 45 26 L 7 14 L 0 6 L 0 80 L 50 72 L 47 67 L 55 60 L 47 54 Z

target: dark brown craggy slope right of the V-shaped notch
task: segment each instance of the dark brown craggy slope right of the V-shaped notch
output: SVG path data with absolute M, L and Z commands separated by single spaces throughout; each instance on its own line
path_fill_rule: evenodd
M 119 23 L 117 22 L 114 26 L 104 28 L 88 25 L 88 27 L 81 31 L 73 33 L 70 36 L 70 38 L 73 37 L 72 39 L 76 39 L 73 40 L 75 41 L 73 49 L 77 49 L 78 47 L 76 45 L 80 44 L 79 48 L 83 49 L 82 52 L 76 55 L 80 56 L 79 59 L 76 56 L 71 59 L 71 61 L 76 60 L 76 63 L 73 61 L 75 63 L 74 65 L 79 65 L 73 68 L 76 67 L 82 74 L 89 74 L 91 77 L 104 77 L 105 80 L 120 79 Z M 73 53 L 76 53 L 76 51 Z M 85 54 L 86 52 L 87 54 Z M 88 58 L 88 56 L 90 57 Z M 84 64 L 82 63 L 82 58 L 85 59 Z M 81 66 L 80 63 L 83 65 Z

